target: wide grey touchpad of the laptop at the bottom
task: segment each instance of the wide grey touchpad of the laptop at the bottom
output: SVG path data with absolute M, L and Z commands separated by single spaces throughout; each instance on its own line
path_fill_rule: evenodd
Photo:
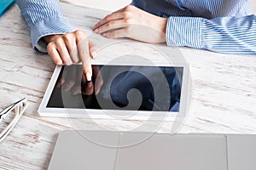
M 144 135 L 144 138 L 142 136 Z M 147 134 L 123 133 L 119 145 L 134 144 Z M 120 147 L 115 170 L 227 170 L 224 135 L 154 134 L 131 147 Z

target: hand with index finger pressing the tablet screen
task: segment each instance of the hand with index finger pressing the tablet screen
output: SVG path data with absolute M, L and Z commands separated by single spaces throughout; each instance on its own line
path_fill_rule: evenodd
M 44 41 L 48 42 L 48 54 L 56 65 L 72 65 L 82 61 L 86 79 L 91 80 L 90 59 L 96 57 L 96 46 L 88 40 L 83 31 L 49 35 L 44 37 Z

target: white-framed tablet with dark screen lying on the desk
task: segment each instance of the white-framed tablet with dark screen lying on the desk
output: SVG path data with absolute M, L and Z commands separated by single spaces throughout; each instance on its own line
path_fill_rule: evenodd
M 92 81 L 86 82 L 82 65 L 56 66 L 39 115 L 155 120 L 186 115 L 186 64 L 117 61 L 94 63 L 92 71 Z

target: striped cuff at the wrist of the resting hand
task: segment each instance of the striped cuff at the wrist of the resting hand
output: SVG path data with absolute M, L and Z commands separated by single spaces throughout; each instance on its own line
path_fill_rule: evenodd
M 186 46 L 201 48 L 201 18 L 169 17 L 166 26 L 168 46 Z

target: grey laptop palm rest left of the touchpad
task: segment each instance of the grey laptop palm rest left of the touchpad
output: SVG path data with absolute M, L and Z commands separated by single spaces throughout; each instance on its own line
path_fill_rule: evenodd
M 119 133 L 63 131 L 59 134 L 49 170 L 112 170 Z

